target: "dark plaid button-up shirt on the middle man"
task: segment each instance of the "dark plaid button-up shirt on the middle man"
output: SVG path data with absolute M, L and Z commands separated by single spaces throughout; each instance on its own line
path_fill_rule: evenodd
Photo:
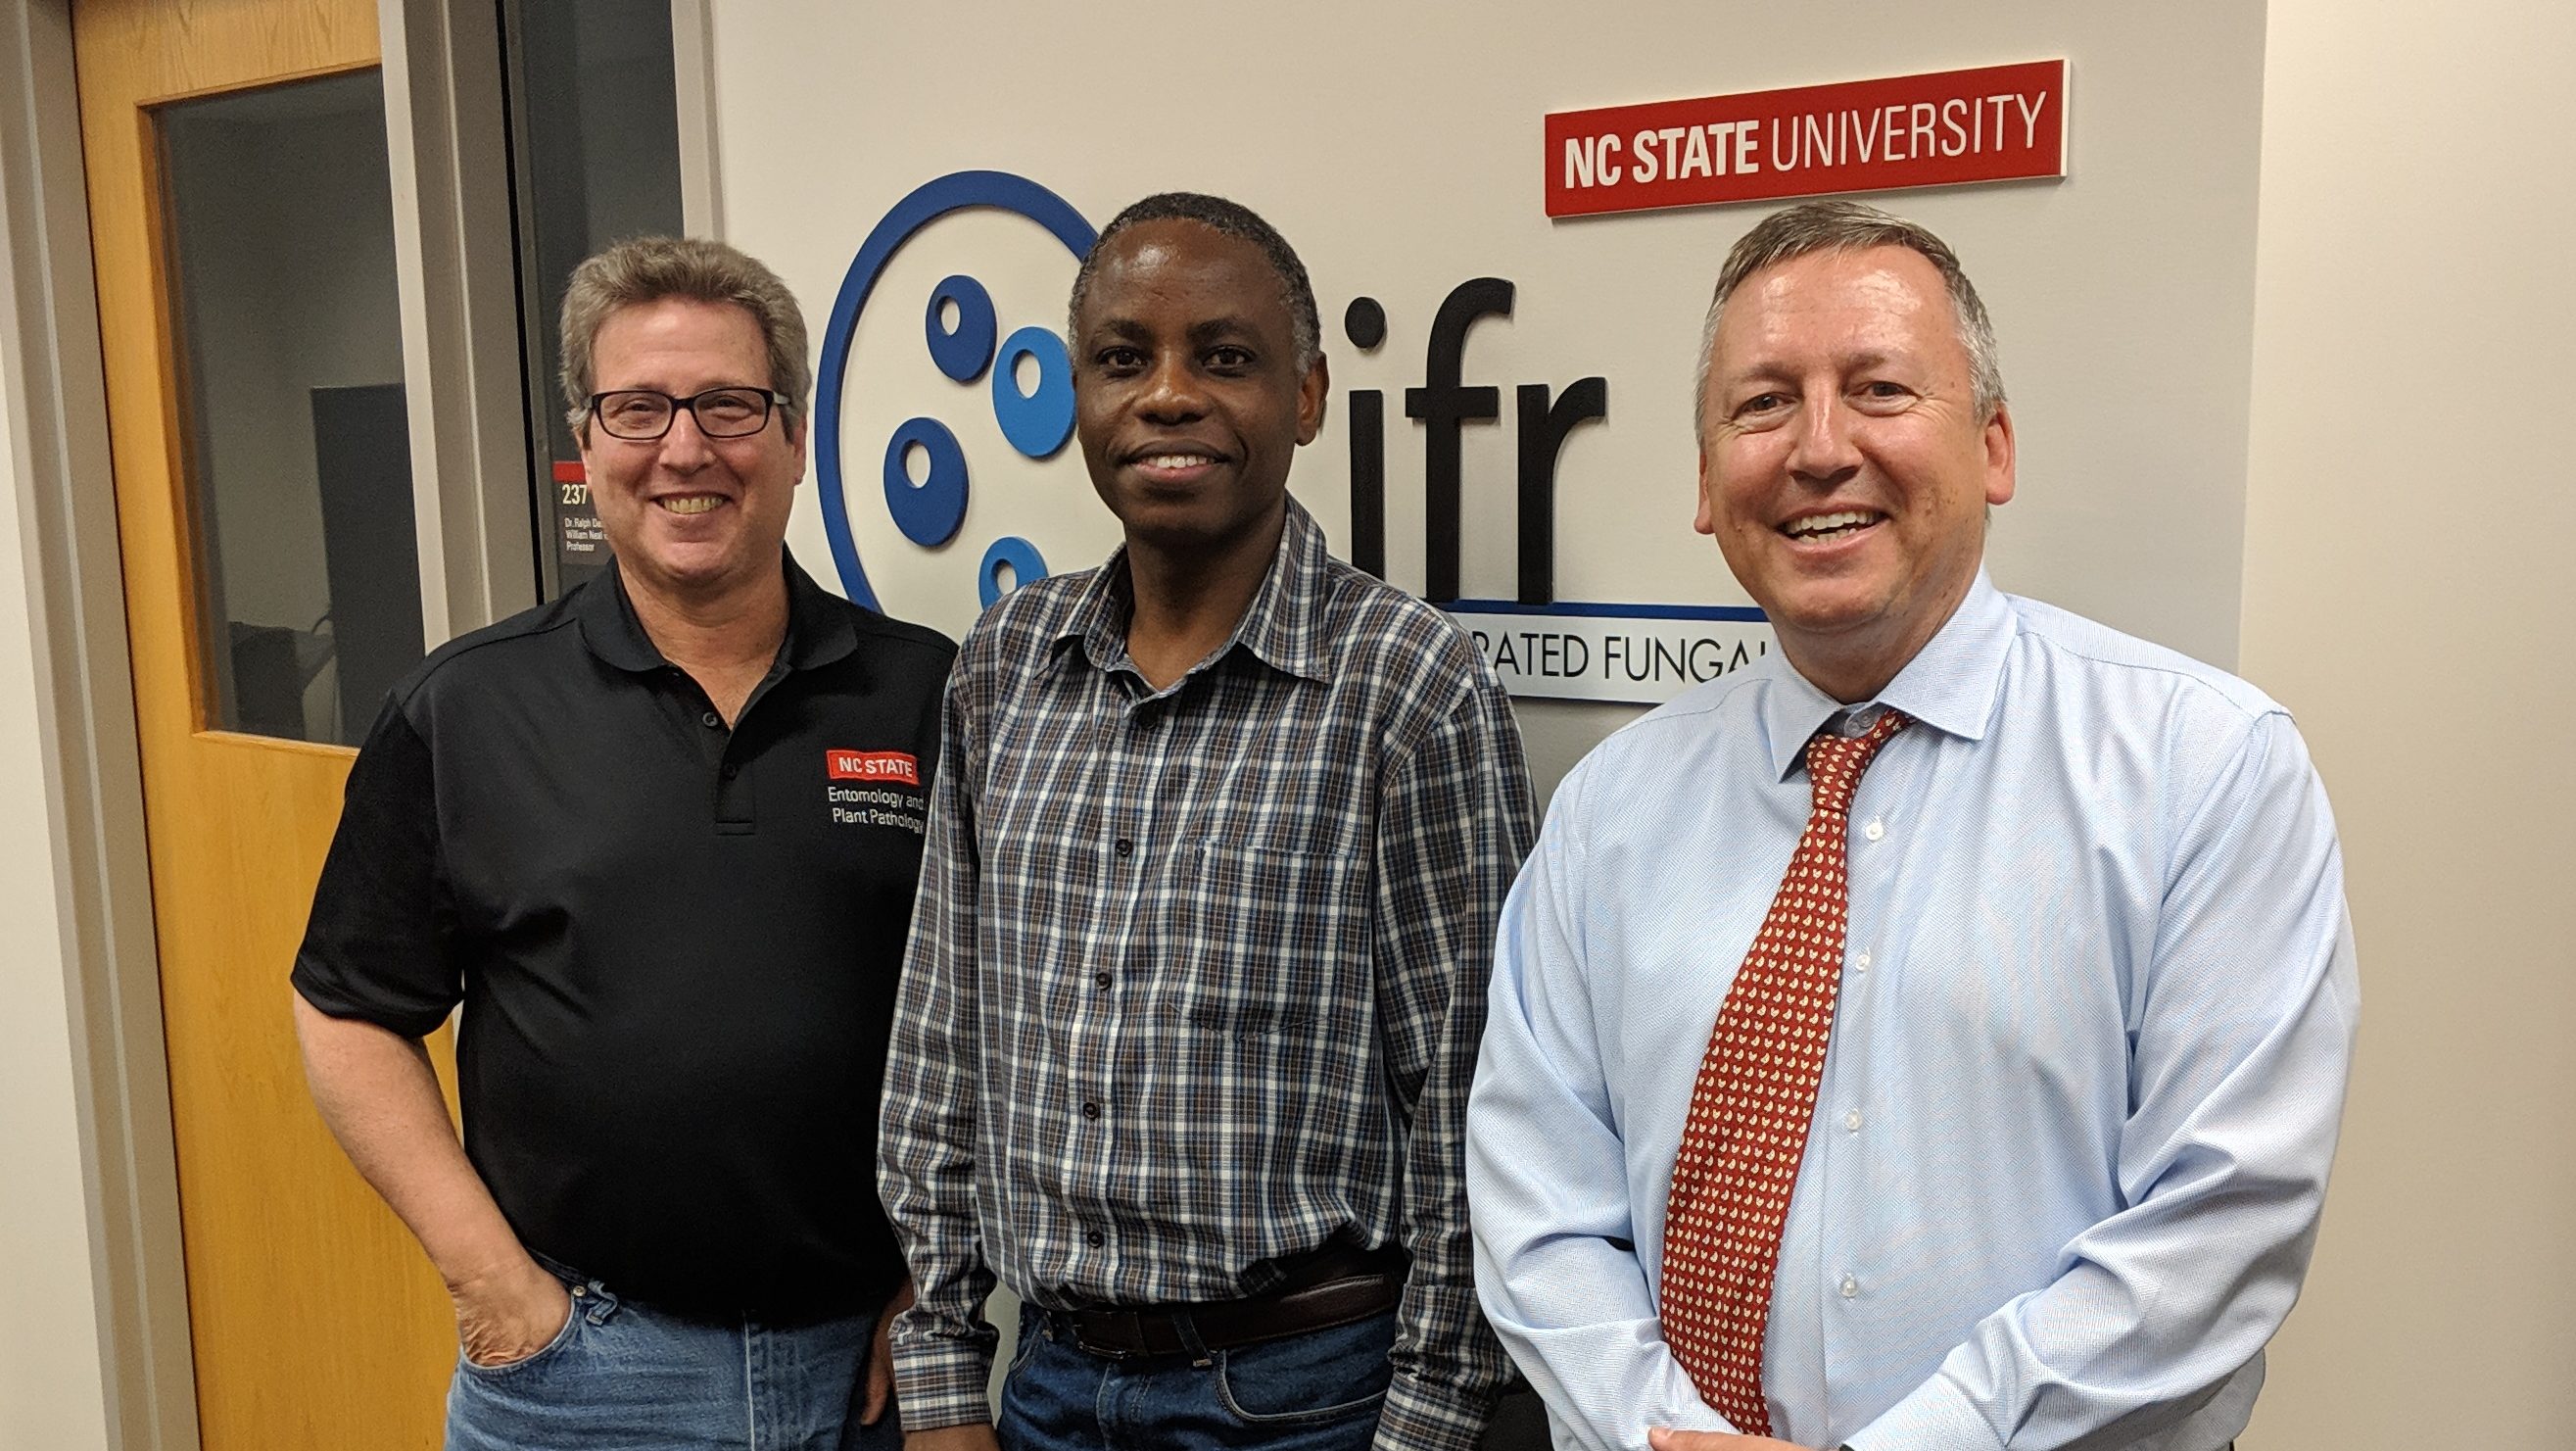
M 948 680 L 884 1108 L 904 1425 L 984 1420 L 994 1276 L 1056 1309 L 1236 1299 L 1401 1240 L 1378 1446 L 1473 1446 L 1507 1376 L 1461 1126 L 1533 835 L 1510 706 L 1293 500 L 1188 675 L 1146 686 L 1126 621 L 1123 557 L 1048 577 Z

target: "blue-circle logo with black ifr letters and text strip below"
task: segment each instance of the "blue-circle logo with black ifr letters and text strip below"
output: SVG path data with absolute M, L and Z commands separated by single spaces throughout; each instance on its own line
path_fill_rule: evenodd
M 984 464 L 1007 464 L 989 443 L 979 451 L 966 443 L 981 433 L 974 415 L 987 410 L 989 394 L 989 412 L 1010 451 L 1046 464 L 1048 477 L 1079 492 L 1082 461 L 1064 454 L 1074 420 L 1064 338 L 1048 320 L 1023 325 L 1010 340 L 999 340 L 1002 307 L 976 271 L 969 271 L 976 268 L 971 250 L 922 237 L 940 222 L 971 211 L 1036 222 L 1061 247 L 1066 278 L 1072 263 L 1092 245 L 1092 224 L 1069 201 L 1025 175 L 997 170 L 951 173 L 917 186 L 858 245 L 822 330 L 814 474 L 842 593 L 871 608 L 878 608 L 891 580 L 917 575 L 902 567 L 907 554 L 940 557 L 953 549 L 958 564 L 971 562 L 976 598 L 984 606 L 1018 582 L 1048 575 L 1048 557 L 1077 570 L 1100 559 L 1100 552 L 1046 528 L 1030 508 L 1038 503 L 1033 495 L 1015 495 L 999 482 L 987 485 L 984 469 L 969 459 L 976 454 Z M 866 389 L 853 389 L 850 376 L 855 348 L 868 332 L 863 314 L 878 296 L 878 281 L 889 276 L 896 253 L 917 242 L 938 255 L 938 265 L 927 268 L 938 281 L 927 296 L 886 299 L 873 335 L 909 358 L 907 371 L 914 376 L 945 376 L 961 392 L 943 412 L 907 418 L 889 433 L 876 399 Z M 1401 415 L 1417 425 L 1414 446 L 1425 459 L 1422 595 L 1458 619 L 1515 696 L 1654 704 L 1759 660 L 1770 649 L 1770 626 L 1752 606 L 1556 598 L 1558 459 L 1577 428 L 1610 415 L 1610 379 L 1589 374 L 1561 387 L 1548 381 L 1502 387 L 1471 379 L 1468 332 L 1481 322 L 1510 320 L 1517 296 L 1520 289 L 1497 276 L 1453 286 L 1440 299 L 1425 338 L 1422 381 L 1399 394 Z M 1352 296 L 1342 312 L 1342 335 L 1363 356 L 1376 353 L 1388 338 L 1386 307 L 1376 296 Z M 1015 353 L 1028 353 L 1036 363 L 1028 369 L 1033 392 L 1012 366 Z M 1337 541 L 1337 552 L 1381 577 L 1388 572 L 1386 464 L 1391 446 L 1406 443 L 1388 441 L 1388 389 L 1347 389 L 1337 402 L 1337 412 L 1350 418 L 1350 536 Z M 1461 598 L 1468 497 L 1461 438 L 1466 425 L 1504 418 L 1512 420 L 1515 436 L 1507 477 L 1515 513 L 1515 598 Z M 853 459 L 858 469 L 850 466 Z M 871 469 L 868 461 L 878 466 Z M 992 474 L 1010 477 L 1007 469 Z M 1314 472 L 1298 474 L 1298 487 L 1319 487 L 1314 477 Z M 1476 492 L 1492 503 L 1492 495 L 1504 490 Z M 987 510 L 969 523 L 976 497 Z M 999 508 L 992 508 L 997 503 Z M 894 523 L 894 539 L 876 528 L 878 518 Z M 863 533 L 876 541 L 871 559 L 881 564 L 884 577 L 860 562 Z M 922 608 L 927 598 L 907 595 L 902 585 L 894 590 L 884 608 L 909 619 L 927 613 Z

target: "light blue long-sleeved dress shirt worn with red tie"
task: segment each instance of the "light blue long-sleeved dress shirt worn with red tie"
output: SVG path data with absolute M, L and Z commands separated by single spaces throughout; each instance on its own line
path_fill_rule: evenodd
M 1765 1335 L 1772 1436 L 2215 1451 L 2298 1296 L 2352 1057 L 2342 853 L 2290 716 L 1978 575 L 1870 706 L 1780 655 L 1566 776 L 1468 1108 L 1476 1286 L 1558 1446 L 1731 1430 L 1664 1345 L 1664 1198 L 1808 817 L 1860 778 L 1832 1046 Z

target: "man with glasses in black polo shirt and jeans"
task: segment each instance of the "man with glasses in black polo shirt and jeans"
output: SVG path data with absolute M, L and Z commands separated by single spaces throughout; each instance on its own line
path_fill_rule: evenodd
M 296 1026 L 456 1299 L 451 1451 L 896 1438 L 876 1095 L 956 652 L 786 557 L 806 387 L 752 258 L 582 263 L 616 567 L 438 649 L 350 771 Z M 461 1147 L 420 1046 L 459 1003 Z

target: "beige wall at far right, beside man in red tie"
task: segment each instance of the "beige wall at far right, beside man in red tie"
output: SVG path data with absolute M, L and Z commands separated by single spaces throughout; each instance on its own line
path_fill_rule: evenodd
M 2244 673 L 2298 711 L 2334 796 L 2362 1057 L 2246 1451 L 2555 1451 L 2576 1438 L 2576 10 L 2269 15 Z

